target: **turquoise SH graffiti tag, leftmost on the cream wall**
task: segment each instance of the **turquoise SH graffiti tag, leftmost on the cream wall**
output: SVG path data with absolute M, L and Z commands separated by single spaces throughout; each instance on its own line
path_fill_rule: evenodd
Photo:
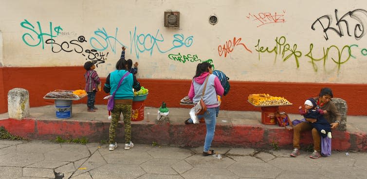
M 30 33 L 25 33 L 25 34 L 23 34 L 23 36 L 22 36 L 22 39 L 23 39 L 23 42 L 25 43 L 25 44 L 27 44 L 28 46 L 31 46 L 31 47 L 36 47 L 36 46 L 38 46 L 40 43 L 42 43 L 42 49 L 44 49 L 44 40 L 43 40 L 43 36 L 50 36 L 51 37 L 51 39 L 53 38 L 53 37 L 56 37 L 56 36 L 58 36 L 59 35 L 59 33 L 60 33 L 60 31 L 62 31 L 62 28 L 60 27 L 60 26 L 56 26 L 55 28 L 54 28 L 54 30 L 52 29 L 52 22 L 50 22 L 50 34 L 47 34 L 47 33 L 43 33 L 42 32 L 42 28 L 41 28 L 41 25 L 40 25 L 40 23 L 37 21 L 37 25 L 38 25 L 38 32 L 35 30 L 35 26 L 34 25 L 32 25 L 28 20 L 26 20 L 26 19 L 24 19 L 24 21 L 23 22 L 21 22 L 20 23 L 20 26 L 21 27 L 23 27 L 23 28 L 25 28 L 25 29 L 29 29 L 29 30 L 31 30 L 34 34 L 35 34 L 35 36 L 37 36 L 37 38 L 38 38 L 38 42 L 37 42 L 37 40 L 35 39 L 35 37 L 34 36 L 32 36 Z M 55 35 L 53 35 L 53 32 L 56 32 L 56 36 Z M 30 40 L 30 38 L 33 40 L 33 41 L 31 41 L 31 42 L 29 42 L 28 40 Z

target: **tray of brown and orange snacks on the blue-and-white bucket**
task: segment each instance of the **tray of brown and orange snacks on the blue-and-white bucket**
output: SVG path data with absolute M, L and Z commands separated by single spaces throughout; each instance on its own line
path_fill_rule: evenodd
M 54 90 L 48 92 L 43 98 L 80 99 L 86 95 L 85 90 Z

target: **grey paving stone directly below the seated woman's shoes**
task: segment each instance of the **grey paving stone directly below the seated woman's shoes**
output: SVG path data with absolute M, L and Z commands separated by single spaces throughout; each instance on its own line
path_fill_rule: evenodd
M 319 160 L 319 159 L 316 159 Z M 292 157 L 277 157 L 274 160 L 268 161 L 268 163 L 281 168 L 283 170 L 297 171 L 299 166 L 302 166 L 302 171 L 318 171 L 321 164 L 314 162 L 314 160 L 309 160 L 308 156 L 298 156 L 296 158 Z

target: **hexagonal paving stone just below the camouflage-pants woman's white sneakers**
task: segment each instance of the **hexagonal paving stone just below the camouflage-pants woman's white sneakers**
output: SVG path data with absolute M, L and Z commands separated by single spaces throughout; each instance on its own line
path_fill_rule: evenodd
M 147 152 L 142 151 L 114 151 L 110 154 L 106 154 L 103 158 L 107 161 L 107 163 L 119 163 L 119 164 L 142 164 L 152 157 L 147 154 Z

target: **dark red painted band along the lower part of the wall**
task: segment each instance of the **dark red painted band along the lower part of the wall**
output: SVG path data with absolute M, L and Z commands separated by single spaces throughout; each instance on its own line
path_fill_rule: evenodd
M 2 73 L 1 73 L 2 72 Z M 24 88 L 30 92 L 30 106 L 38 107 L 54 104 L 53 100 L 44 100 L 43 96 L 52 90 L 84 89 L 85 70 L 77 67 L 3 67 L 0 68 L 0 113 L 7 111 L 7 93 L 13 88 Z M 2 74 L 2 77 L 1 77 Z M 105 78 L 102 78 L 104 84 Z M 191 80 L 138 79 L 142 86 L 149 90 L 145 106 L 159 107 L 164 101 L 167 107 L 187 107 L 180 105 L 180 100 L 187 95 Z M 325 83 L 288 83 L 288 82 L 246 82 L 230 81 L 231 90 L 223 97 L 221 109 L 260 111 L 247 102 L 252 93 L 269 93 L 273 96 L 283 96 L 294 105 L 280 107 L 280 110 L 297 113 L 298 106 L 305 99 L 317 96 L 320 89 L 329 87 L 334 97 L 347 101 L 348 115 L 367 115 L 367 84 L 325 84 Z M 96 104 L 107 104 L 103 97 L 107 94 L 97 92 Z M 87 98 L 74 101 L 74 104 L 86 104 Z

